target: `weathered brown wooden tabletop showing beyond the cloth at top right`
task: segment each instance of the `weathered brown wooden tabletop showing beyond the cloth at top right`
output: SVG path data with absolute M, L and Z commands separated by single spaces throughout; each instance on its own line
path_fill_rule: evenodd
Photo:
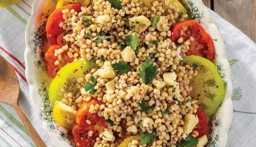
M 256 0 L 203 0 L 222 18 L 256 42 Z

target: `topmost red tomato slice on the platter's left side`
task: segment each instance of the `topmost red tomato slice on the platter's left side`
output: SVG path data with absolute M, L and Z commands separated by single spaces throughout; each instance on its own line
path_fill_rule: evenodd
M 54 10 L 51 15 L 49 16 L 46 24 L 46 32 L 47 32 L 47 39 L 51 43 L 51 45 L 57 44 L 57 41 L 53 41 L 54 39 L 56 40 L 57 37 L 64 32 L 64 29 L 59 26 L 61 21 L 64 21 L 63 19 L 63 13 L 61 12 L 64 9 L 74 9 L 77 12 L 81 11 L 81 7 L 78 4 L 70 4 L 61 8 L 58 8 Z

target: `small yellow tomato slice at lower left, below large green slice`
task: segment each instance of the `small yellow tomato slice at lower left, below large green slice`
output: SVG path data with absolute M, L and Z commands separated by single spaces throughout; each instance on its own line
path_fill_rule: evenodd
M 75 123 L 75 115 L 77 111 L 72 107 L 62 103 L 62 101 L 56 102 L 53 107 L 53 118 L 56 123 L 68 130 L 72 130 Z

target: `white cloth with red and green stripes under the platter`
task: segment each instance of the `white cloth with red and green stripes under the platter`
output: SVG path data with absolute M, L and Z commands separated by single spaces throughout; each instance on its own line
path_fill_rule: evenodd
M 31 16 L 32 3 L 33 0 L 21 0 L 18 4 L 0 8 L 0 54 L 17 73 L 20 84 L 19 105 L 47 146 L 51 147 L 51 141 L 35 114 L 25 78 L 25 28 Z M 256 44 L 215 12 L 209 11 L 226 44 L 234 87 L 234 115 L 228 131 L 227 147 L 255 147 Z M 0 146 L 35 147 L 14 109 L 3 103 L 0 103 Z

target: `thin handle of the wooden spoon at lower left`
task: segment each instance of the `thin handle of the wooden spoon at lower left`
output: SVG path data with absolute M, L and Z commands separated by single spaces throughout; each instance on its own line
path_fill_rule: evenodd
M 38 132 L 36 132 L 35 128 L 24 114 L 24 112 L 21 110 L 21 107 L 19 107 L 19 104 L 13 105 L 13 107 L 19 115 L 19 118 L 21 118 L 21 121 L 25 125 L 26 129 L 28 130 L 28 133 L 34 141 L 36 147 L 47 147 L 45 142 L 42 140 Z

